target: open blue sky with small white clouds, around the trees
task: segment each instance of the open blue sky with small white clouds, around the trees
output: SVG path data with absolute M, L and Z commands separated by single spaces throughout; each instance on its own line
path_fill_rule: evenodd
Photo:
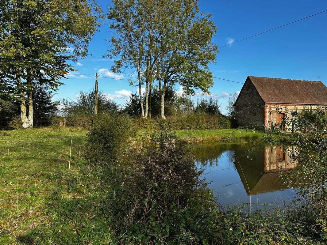
M 110 1 L 98 0 L 104 11 Z M 327 1 L 199 1 L 200 11 L 211 13 L 218 28 L 213 42 L 223 46 L 327 9 Z M 88 58 L 101 59 L 108 49 L 105 39 L 112 36 L 103 24 L 90 42 Z M 288 79 L 320 80 L 327 85 L 327 12 L 271 32 L 219 49 L 213 75 L 244 82 L 248 75 Z M 76 94 L 94 88 L 96 72 L 120 79 L 127 74 L 110 73 L 112 61 L 80 60 L 78 70 L 63 80 L 56 99 L 76 99 Z M 86 74 L 86 75 L 78 75 Z M 90 75 L 89 75 L 90 74 Z M 112 75 L 110 75 L 112 74 Z M 242 84 L 214 79 L 212 94 L 226 96 L 240 91 Z M 136 87 L 128 81 L 99 78 L 99 90 L 124 105 Z M 214 97 L 216 98 L 216 97 Z M 195 98 L 196 99 L 196 98 Z M 228 101 L 218 97 L 222 111 Z

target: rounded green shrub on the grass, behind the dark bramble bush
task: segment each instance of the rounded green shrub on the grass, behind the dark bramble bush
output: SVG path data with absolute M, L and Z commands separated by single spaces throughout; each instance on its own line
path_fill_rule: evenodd
M 127 155 L 134 132 L 126 116 L 98 115 L 88 132 L 86 158 L 98 163 L 118 161 Z

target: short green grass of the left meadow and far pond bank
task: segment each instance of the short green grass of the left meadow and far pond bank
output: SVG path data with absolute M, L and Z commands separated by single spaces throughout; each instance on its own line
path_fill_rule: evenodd
M 240 142 L 264 135 L 236 129 L 176 133 L 190 141 Z M 110 187 L 100 169 L 82 157 L 86 139 L 85 130 L 69 127 L 0 132 L 0 244 L 21 244 L 31 237 L 39 237 L 41 244 L 112 241 L 105 204 Z

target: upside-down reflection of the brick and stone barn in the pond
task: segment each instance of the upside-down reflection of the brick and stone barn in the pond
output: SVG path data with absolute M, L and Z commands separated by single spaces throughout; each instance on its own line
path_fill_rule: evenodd
M 280 175 L 296 167 L 289 154 L 279 146 L 256 148 L 255 155 L 245 156 L 243 150 L 235 150 L 235 167 L 240 175 L 246 192 L 251 195 L 283 190 Z

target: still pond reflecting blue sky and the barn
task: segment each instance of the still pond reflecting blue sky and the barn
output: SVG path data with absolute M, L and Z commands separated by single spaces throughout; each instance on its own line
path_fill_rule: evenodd
M 223 206 L 251 203 L 289 204 L 294 191 L 287 188 L 280 175 L 296 167 L 279 146 L 252 149 L 250 144 L 194 144 L 196 164 L 204 170 L 208 187 Z M 250 152 L 252 149 L 252 152 Z

